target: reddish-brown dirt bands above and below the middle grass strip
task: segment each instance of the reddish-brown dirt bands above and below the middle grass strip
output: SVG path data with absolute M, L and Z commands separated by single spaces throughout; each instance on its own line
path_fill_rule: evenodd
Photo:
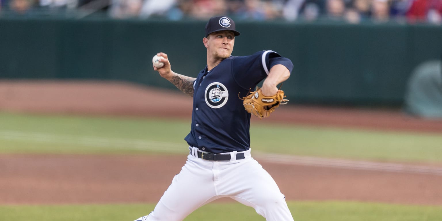
M 191 98 L 180 92 L 117 82 L 0 81 L 0 95 L 0 110 L 8 112 L 191 116 Z M 154 104 L 152 98 L 159 101 Z M 392 110 L 283 106 L 265 120 L 442 133 L 442 121 Z M 255 158 L 287 200 L 442 205 L 441 174 Z M 0 204 L 156 202 L 185 160 L 186 156 L 164 155 L 0 155 Z

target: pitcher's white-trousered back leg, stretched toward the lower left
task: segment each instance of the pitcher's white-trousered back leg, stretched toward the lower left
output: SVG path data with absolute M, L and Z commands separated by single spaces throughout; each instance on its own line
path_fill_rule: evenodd
M 203 169 L 195 159 L 199 160 L 194 156 L 188 157 L 182 170 L 175 175 L 171 185 L 145 220 L 182 221 L 200 206 L 216 199 L 211 171 Z

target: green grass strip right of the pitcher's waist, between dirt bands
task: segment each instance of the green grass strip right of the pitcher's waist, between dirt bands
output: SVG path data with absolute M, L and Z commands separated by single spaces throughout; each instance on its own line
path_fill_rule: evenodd
M 252 133 L 252 149 L 266 152 L 355 160 L 442 162 L 442 134 L 300 126 L 255 127 Z

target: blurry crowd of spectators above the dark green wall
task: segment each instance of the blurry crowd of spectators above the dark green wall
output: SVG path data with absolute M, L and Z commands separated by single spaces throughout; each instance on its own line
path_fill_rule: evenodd
M 442 23 L 442 0 L 0 0 L 2 15 L 83 13 L 116 19 Z

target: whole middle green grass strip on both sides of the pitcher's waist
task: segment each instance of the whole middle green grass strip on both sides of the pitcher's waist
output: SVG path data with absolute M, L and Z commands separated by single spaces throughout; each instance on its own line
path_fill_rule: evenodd
M 0 113 L 0 153 L 186 153 L 190 119 Z M 442 135 L 330 127 L 251 126 L 253 151 L 409 162 L 442 162 Z

